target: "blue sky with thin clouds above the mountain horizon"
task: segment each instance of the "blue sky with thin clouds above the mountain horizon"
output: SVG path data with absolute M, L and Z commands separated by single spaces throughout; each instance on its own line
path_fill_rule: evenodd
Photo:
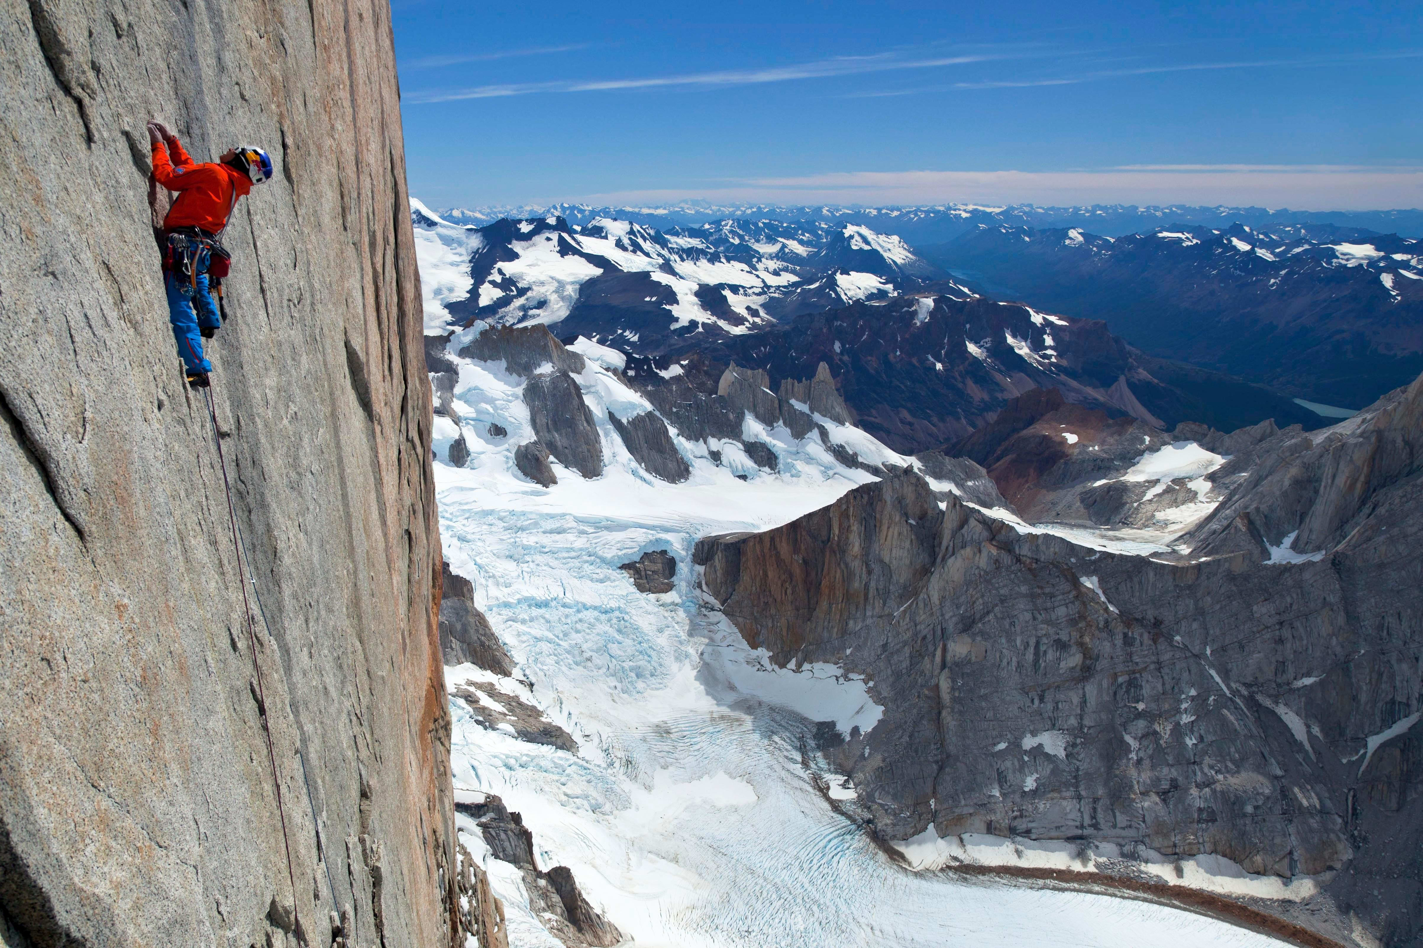
M 1406 3 L 394 0 L 433 206 L 1423 206 Z

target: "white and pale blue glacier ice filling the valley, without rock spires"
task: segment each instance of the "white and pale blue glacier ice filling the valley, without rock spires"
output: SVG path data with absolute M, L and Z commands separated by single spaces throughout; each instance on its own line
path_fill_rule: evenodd
M 423 250 L 425 260 L 438 260 L 437 249 Z M 514 448 L 532 432 L 525 379 L 502 362 L 458 360 L 460 425 L 437 418 L 445 557 L 474 583 L 477 605 L 517 662 L 511 678 L 447 668 L 447 682 L 492 684 L 542 709 L 579 745 L 569 753 L 490 731 L 451 699 L 458 799 L 497 793 L 519 812 L 539 868 L 571 867 L 588 900 L 639 948 L 1278 944 L 1141 901 L 935 871 L 952 856 L 945 847 L 983 853 L 998 846 L 992 840 L 906 841 L 901 849 L 925 871 L 885 856 L 831 807 L 854 787 L 805 752 L 817 721 L 858 726 L 872 740 L 881 715 L 872 682 L 827 664 L 774 668 L 697 591 L 690 561 L 702 536 L 764 530 L 871 476 L 841 466 L 814 435 L 797 441 L 777 426 L 747 431 L 777 451 L 777 473 L 748 459 L 739 465 L 730 449 L 719 466 L 706 445 L 673 433 L 692 478 L 657 480 L 606 419 L 650 405 L 609 371 L 615 351 L 575 348 L 589 360 L 575 378 L 603 439 L 603 476 L 585 480 L 554 462 L 559 482 L 545 489 L 517 472 Z M 491 422 L 508 433 L 491 436 Z M 470 459 L 454 468 L 444 462 L 461 431 Z M 831 436 L 862 456 L 878 445 L 848 426 Z M 1200 470 L 1204 460 L 1173 458 L 1150 475 Z M 676 557 L 672 593 L 639 593 L 618 569 L 649 550 Z M 1053 750 L 1060 735 L 1026 735 L 1029 743 Z M 820 779 L 828 792 L 817 789 Z M 509 944 L 559 948 L 529 908 L 519 873 L 492 858 L 471 820 L 458 823 L 504 901 Z

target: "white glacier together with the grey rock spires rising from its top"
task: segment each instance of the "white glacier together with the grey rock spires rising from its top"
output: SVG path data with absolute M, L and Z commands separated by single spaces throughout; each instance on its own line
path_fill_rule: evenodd
M 1163 904 L 905 871 L 914 847 L 901 860 L 874 841 L 857 787 L 817 749 L 875 739 L 874 682 L 773 661 L 702 588 L 699 539 L 780 526 L 908 468 L 1007 529 L 1052 529 L 1019 520 L 972 462 L 889 451 L 842 421 L 822 372 L 773 394 L 727 368 L 717 394 L 687 388 L 665 411 L 623 354 L 536 325 L 477 323 L 427 352 L 444 550 L 499 652 L 445 669 L 457 823 L 511 945 L 612 944 L 581 938 L 578 918 L 704 948 L 1006 948 L 1064 928 L 1111 947 L 1276 944 Z M 1163 539 L 1180 529 L 1164 520 Z M 667 564 L 665 586 L 639 586 L 643 561 Z M 511 833 L 527 834 L 519 858 Z M 1025 864 L 1047 858 L 1026 840 L 1000 849 L 1015 846 Z M 541 888 L 554 867 L 586 911 Z M 1191 870 L 1187 884 L 1221 884 Z M 1154 871 L 1177 884 L 1168 861 Z

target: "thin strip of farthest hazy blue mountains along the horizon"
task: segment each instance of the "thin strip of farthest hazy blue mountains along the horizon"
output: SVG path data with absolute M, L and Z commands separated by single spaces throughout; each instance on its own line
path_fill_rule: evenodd
M 979 225 L 1010 227 L 1081 227 L 1096 235 L 1120 237 L 1128 233 L 1155 230 L 1164 225 L 1195 225 L 1228 227 L 1242 223 L 1257 230 L 1282 225 L 1336 225 L 1423 237 L 1423 210 L 1289 210 L 1284 208 L 1228 208 L 1168 205 L 1089 205 L 1079 208 L 1042 208 L 1037 205 L 928 205 L 909 208 L 837 208 L 777 205 L 710 205 L 683 202 L 660 206 L 593 206 L 559 203 L 551 206 L 448 209 L 441 216 L 451 223 L 482 226 L 499 217 L 564 217 L 571 226 L 592 223 L 599 217 L 628 220 L 647 227 L 699 227 L 719 220 L 761 220 L 780 223 L 857 223 L 877 233 L 904 239 L 911 246 L 946 243 L 975 230 Z

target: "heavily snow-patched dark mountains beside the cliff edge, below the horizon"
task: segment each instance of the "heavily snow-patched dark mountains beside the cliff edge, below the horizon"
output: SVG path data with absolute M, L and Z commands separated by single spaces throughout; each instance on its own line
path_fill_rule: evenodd
M 549 215 L 457 225 L 411 202 L 427 320 L 558 324 L 639 352 L 898 296 L 941 276 L 898 237 L 841 223 L 655 230 Z M 949 290 L 955 291 L 955 290 Z M 958 290 L 962 296 L 970 296 Z

